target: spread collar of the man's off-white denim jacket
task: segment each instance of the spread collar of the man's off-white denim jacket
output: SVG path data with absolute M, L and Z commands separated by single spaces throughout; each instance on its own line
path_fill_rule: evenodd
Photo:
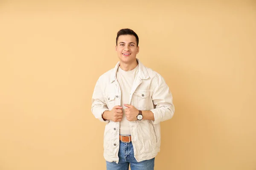
M 140 62 L 139 59 L 137 59 L 137 62 L 139 63 L 139 71 L 138 71 L 138 77 L 139 79 L 148 79 L 149 76 L 148 76 L 148 71 L 147 69 L 145 68 L 145 66 L 142 64 L 142 62 Z M 111 73 L 111 82 L 115 81 L 116 80 L 116 72 L 117 72 L 117 69 L 120 65 L 120 62 L 117 62 L 115 68 L 113 68 L 113 71 Z

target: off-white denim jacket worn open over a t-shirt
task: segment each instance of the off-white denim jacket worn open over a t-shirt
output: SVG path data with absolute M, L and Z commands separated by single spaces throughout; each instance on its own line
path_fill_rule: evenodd
M 131 88 L 129 104 L 141 111 L 154 113 L 154 121 L 131 121 L 131 139 L 134 157 L 140 162 L 152 159 L 160 151 L 160 122 L 171 119 L 174 114 L 172 94 L 163 77 L 150 68 L 146 68 L 139 59 L 139 71 Z M 121 89 L 116 79 L 115 68 L 99 77 L 92 97 L 93 115 L 106 122 L 104 132 L 104 158 L 106 161 L 118 163 L 119 122 L 104 121 L 102 114 L 114 106 L 121 105 Z

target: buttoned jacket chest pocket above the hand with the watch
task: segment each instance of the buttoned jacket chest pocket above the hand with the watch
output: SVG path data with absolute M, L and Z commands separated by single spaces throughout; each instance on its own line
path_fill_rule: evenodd
M 148 102 L 151 98 L 149 96 L 149 92 L 148 91 L 135 91 L 134 95 L 136 95 L 134 103 L 137 104 L 137 109 L 143 110 L 143 111 L 147 110 Z

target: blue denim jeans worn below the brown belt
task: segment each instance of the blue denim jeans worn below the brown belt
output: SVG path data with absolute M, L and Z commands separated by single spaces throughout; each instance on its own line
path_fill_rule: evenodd
M 124 143 L 119 142 L 119 162 L 108 162 L 107 170 L 129 170 L 129 164 L 131 164 L 131 170 L 154 170 L 154 158 L 137 162 L 134 158 L 134 149 L 132 142 Z

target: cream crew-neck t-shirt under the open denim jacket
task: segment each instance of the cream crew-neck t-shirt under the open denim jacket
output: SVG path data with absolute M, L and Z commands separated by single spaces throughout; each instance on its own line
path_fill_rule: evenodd
M 123 117 L 120 122 L 120 135 L 131 135 L 129 121 L 125 116 L 124 104 L 129 104 L 129 97 L 134 79 L 139 71 L 139 65 L 131 71 L 123 71 L 120 66 L 116 72 L 117 81 L 121 88 L 121 106 Z

